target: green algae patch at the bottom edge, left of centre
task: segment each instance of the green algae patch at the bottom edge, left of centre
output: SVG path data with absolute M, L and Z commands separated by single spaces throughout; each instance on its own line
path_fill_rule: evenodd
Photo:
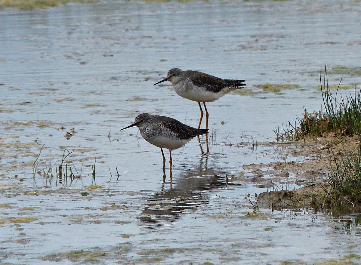
M 69 251 L 66 253 L 52 253 L 41 258 L 43 261 L 69 260 L 71 262 L 99 262 L 99 258 L 105 258 L 108 254 L 101 251 Z

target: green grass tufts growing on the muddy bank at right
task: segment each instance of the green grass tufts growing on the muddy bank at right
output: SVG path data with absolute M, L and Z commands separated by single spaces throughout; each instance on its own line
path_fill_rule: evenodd
M 361 205 L 361 90 L 349 96 L 337 99 L 330 91 L 327 81 L 327 71 L 320 83 L 325 110 L 309 113 L 304 112 L 303 118 L 295 121 L 295 126 L 290 122 L 286 129 L 277 128 L 274 132 L 277 140 L 298 141 L 308 137 L 326 138 L 332 135 L 332 140 L 326 140 L 324 148 L 328 149 L 331 162 L 327 184 L 322 186 L 323 192 L 315 194 L 313 204 L 316 207 L 345 208 Z M 341 78 L 342 81 L 342 78 Z M 340 83 L 341 83 L 340 81 Z M 339 86 L 340 86 L 339 83 Z M 338 86 L 338 88 L 339 88 Z M 299 123 L 299 126 L 296 124 Z M 355 138 L 356 137 L 356 138 Z M 345 142 L 355 138 L 356 142 L 351 149 L 345 147 Z M 338 145 L 339 149 L 335 149 Z

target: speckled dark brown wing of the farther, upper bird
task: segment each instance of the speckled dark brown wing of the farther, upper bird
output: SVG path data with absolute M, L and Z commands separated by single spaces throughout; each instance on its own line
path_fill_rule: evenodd
M 200 87 L 205 87 L 208 91 L 218 93 L 223 88 L 239 88 L 240 86 L 245 86 L 243 84 L 245 80 L 238 80 L 238 79 L 222 79 L 219 77 L 215 77 L 213 75 L 200 73 L 197 71 L 185 71 L 190 74 L 190 79 L 192 80 L 193 84 Z

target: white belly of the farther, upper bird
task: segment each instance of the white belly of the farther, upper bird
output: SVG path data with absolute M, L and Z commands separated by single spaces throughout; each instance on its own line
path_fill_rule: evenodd
M 219 97 L 223 96 L 220 93 L 215 93 L 212 91 L 207 91 L 202 87 L 192 86 L 192 88 L 187 88 L 184 86 L 174 86 L 175 92 L 186 99 L 199 101 L 199 102 L 213 102 Z

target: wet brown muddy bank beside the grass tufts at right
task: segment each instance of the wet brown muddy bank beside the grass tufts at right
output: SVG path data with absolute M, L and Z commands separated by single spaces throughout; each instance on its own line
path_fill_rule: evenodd
M 358 136 L 341 138 L 334 134 L 288 143 L 283 161 L 244 165 L 244 169 L 257 177 L 233 177 L 232 181 L 248 181 L 256 187 L 269 188 L 269 192 L 257 196 L 257 203 L 265 207 L 322 208 L 322 201 L 330 192 L 329 172 L 335 169 L 335 160 L 348 155 L 359 143 Z M 288 162 L 290 153 L 304 159 Z

